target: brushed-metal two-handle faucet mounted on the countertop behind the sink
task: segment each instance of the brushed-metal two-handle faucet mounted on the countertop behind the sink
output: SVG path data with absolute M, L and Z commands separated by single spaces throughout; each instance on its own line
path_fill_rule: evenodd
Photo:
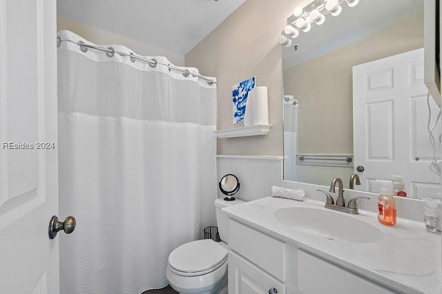
M 356 200 L 358 200 L 358 199 L 369 200 L 369 198 L 368 197 L 352 198 L 349 200 L 347 207 L 345 207 L 343 181 L 340 180 L 340 178 L 334 178 L 332 180 L 332 184 L 330 185 L 330 192 L 335 193 L 336 182 L 338 183 L 338 198 L 336 198 L 336 204 L 334 204 L 333 196 L 330 195 L 329 192 L 321 190 L 321 189 L 316 190 L 318 192 L 324 193 L 325 196 L 327 197 L 327 200 L 325 201 L 325 208 L 333 209 L 333 210 L 337 210 L 337 211 L 342 211 L 345 213 L 359 214 L 358 207 L 356 205 Z

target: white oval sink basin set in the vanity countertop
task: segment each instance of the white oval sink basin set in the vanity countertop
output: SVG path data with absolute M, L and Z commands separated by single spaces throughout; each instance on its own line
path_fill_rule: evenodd
M 275 218 L 296 230 L 351 243 L 374 243 L 383 233 L 374 225 L 358 220 L 358 216 L 314 207 L 285 207 L 274 213 Z

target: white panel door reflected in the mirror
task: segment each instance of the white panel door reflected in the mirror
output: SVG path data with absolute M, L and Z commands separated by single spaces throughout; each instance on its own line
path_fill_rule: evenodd
M 396 174 L 404 176 L 407 197 L 435 197 L 440 191 L 429 169 L 427 92 L 423 49 L 353 67 L 354 172 L 361 178 L 356 189 L 378 192 L 376 179 Z M 431 97 L 430 108 L 433 124 L 439 108 Z M 436 142 L 439 134 L 438 125 Z

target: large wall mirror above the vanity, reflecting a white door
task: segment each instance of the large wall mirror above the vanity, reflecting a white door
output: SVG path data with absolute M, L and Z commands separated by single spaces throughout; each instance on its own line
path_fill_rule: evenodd
M 348 188 L 358 174 L 354 189 L 377 192 L 376 179 L 400 175 L 407 197 L 440 197 L 430 170 L 441 132 L 423 84 L 423 6 L 344 2 L 337 17 L 284 48 L 285 180 L 329 185 L 337 176 Z

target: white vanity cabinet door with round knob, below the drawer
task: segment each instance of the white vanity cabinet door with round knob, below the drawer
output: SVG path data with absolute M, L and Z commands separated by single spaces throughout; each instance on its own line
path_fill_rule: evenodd
M 229 294 L 285 294 L 285 284 L 229 250 Z

